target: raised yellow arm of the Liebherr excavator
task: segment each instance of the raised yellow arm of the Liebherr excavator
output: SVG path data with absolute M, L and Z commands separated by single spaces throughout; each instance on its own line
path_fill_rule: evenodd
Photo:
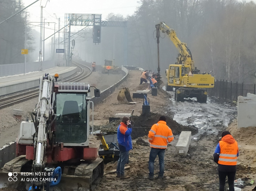
M 184 64 L 184 65 L 190 66 L 190 68 L 194 70 L 195 67 L 194 67 L 194 61 L 192 59 L 191 51 L 187 47 L 186 43 L 183 43 L 179 40 L 174 29 L 168 27 L 164 22 L 161 22 L 156 25 L 156 30 L 162 31 L 163 33 L 168 35 L 172 43 L 179 50 L 179 55 L 177 58 L 178 64 Z

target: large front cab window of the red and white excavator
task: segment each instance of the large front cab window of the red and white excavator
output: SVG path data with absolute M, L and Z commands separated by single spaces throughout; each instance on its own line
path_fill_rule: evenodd
M 56 142 L 82 143 L 87 139 L 85 94 L 56 94 Z

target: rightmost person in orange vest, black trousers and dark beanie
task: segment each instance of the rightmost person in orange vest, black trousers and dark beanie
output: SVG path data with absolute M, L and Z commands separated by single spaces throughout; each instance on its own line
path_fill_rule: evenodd
M 224 191 L 226 176 L 230 191 L 234 191 L 237 157 L 239 155 L 238 143 L 229 131 L 223 131 L 214 151 L 214 162 L 218 164 L 219 191 Z

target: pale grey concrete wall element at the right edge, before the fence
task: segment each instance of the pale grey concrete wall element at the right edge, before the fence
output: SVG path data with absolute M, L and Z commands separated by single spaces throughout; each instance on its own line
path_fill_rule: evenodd
M 256 95 L 238 96 L 237 127 L 256 127 Z

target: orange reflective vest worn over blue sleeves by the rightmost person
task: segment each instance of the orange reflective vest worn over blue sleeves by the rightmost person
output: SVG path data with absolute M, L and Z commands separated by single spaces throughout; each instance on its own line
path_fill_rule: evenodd
M 218 164 L 236 165 L 238 144 L 231 134 L 227 134 L 219 141 L 219 147 L 220 154 Z

